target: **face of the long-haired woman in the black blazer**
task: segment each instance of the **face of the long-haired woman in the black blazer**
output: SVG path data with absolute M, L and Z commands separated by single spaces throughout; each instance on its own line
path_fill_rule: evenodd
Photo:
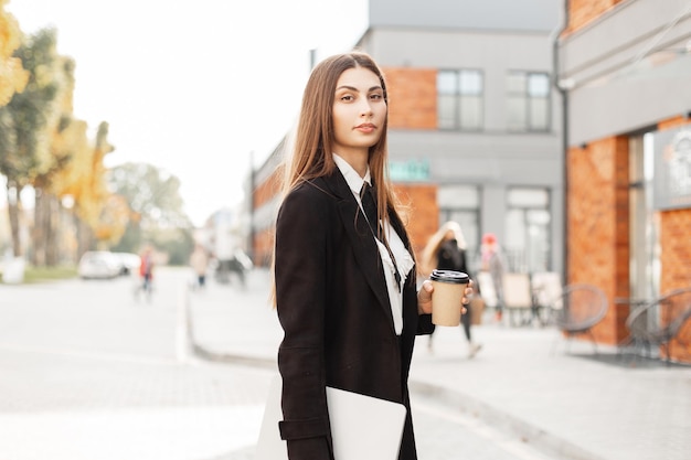
M 384 89 L 376 74 L 363 67 L 343 72 L 333 99 L 334 153 L 346 159 L 368 153 L 385 120 Z

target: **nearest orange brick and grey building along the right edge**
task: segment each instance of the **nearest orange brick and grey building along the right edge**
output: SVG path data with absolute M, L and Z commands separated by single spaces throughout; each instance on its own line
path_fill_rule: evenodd
M 605 290 L 595 334 L 616 344 L 627 299 L 691 286 L 691 1 L 565 6 L 567 281 Z M 691 362 L 680 346 L 672 355 Z

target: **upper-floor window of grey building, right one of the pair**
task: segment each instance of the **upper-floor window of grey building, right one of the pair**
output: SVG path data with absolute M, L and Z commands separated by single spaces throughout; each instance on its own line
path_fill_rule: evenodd
M 546 73 L 509 72 L 507 127 L 510 131 L 550 129 L 550 77 Z

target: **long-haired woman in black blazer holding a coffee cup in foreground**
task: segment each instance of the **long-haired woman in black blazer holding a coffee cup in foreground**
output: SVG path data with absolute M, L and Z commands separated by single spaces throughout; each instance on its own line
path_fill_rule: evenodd
M 327 385 L 404 404 L 400 459 L 417 458 L 407 377 L 415 335 L 434 330 L 433 287 L 416 292 L 413 250 L 386 174 L 386 85 L 369 55 L 336 55 L 313 68 L 274 254 L 284 329 L 279 428 L 290 460 L 333 458 Z M 372 186 L 364 202 L 376 202 L 370 220 L 364 184 Z

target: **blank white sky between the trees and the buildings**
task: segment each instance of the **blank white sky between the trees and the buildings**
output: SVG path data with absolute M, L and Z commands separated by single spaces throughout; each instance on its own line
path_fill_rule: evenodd
M 366 0 L 10 0 L 25 33 L 53 25 L 76 62 L 74 115 L 110 126 L 111 167 L 180 178 L 201 225 L 291 128 L 317 57 L 349 50 Z

